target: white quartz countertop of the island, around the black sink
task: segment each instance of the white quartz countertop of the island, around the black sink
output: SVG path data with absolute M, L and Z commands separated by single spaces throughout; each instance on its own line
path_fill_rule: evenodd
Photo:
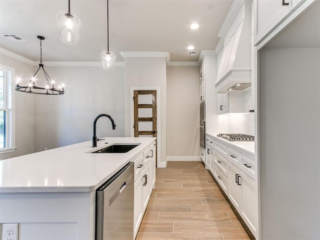
M 155 137 L 103 137 L 0 160 L 0 192 L 88 192 L 134 160 Z M 108 143 L 105 143 L 108 142 Z M 140 143 L 126 153 L 88 153 L 111 143 Z

